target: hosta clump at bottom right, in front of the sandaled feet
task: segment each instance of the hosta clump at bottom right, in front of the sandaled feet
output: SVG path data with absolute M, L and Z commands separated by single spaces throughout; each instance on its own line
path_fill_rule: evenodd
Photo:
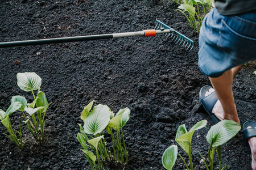
M 176 145 L 172 145 L 168 147 L 166 151 L 164 151 L 162 156 L 162 163 L 164 165 L 164 168 L 171 170 L 176 162 L 177 156 L 179 156 L 183 160 L 187 169 L 193 170 L 192 154 L 191 154 L 192 135 L 195 132 L 195 130 L 205 128 L 206 125 L 207 125 L 207 121 L 202 120 L 200 122 L 197 122 L 197 124 L 194 125 L 189 131 L 187 131 L 185 125 L 181 125 L 177 129 L 175 141 L 188 154 L 190 169 L 187 163 L 185 162 L 185 160 L 183 159 L 183 157 L 180 154 L 178 154 Z M 210 128 L 206 137 L 207 142 L 210 144 L 208 149 L 208 159 L 209 159 L 210 167 L 208 167 L 207 162 L 199 152 L 199 155 L 204 160 L 207 170 L 213 169 L 213 158 L 214 158 L 215 150 L 218 156 L 219 169 L 224 170 L 226 167 L 228 167 L 228 165 L 225 165 L 224 167 L 221 168 L 221 146 L 224 145 L 226 142 L 228 142 L 230 139 L 232 139 L 240 129 L 241 129 L 240 125 L 230 120 L 224 120 L 224 121 L 218 122 L 218 124 Z

